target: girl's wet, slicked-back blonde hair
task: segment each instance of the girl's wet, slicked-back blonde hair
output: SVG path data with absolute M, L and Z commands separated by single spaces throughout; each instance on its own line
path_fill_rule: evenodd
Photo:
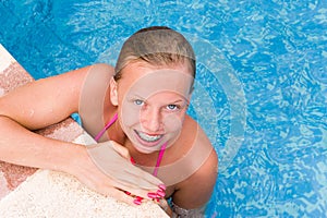
M 142 28 L 123 44 L 117 64 L 114 80 L 122 76 L 122 69 L 131 62 L 146 62 L 154 66 L 189 64 L 195 77 L 195 55 L 190 43 L 180 33 L 166 26 Z

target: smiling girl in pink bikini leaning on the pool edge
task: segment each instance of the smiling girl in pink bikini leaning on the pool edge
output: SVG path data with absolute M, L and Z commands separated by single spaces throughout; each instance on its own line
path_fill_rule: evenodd
M 156 201 L 172 217 L 199 217 L 218 160 L 186 114 L 194 77 L 194 52 L 181 34 L 141 29 L 124 43 L 114 69 L 86 66 L 0 98 L 0 160 L 68 172 L 126 203 Z M 98 144 L 33 132 L 74 112 Z

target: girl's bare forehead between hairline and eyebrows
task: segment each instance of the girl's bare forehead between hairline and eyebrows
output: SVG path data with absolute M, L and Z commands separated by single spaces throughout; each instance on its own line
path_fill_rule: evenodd
M 186 66 L 154 68 L 148 64 L 131 63 L 123 70 L 120 82 L 125 94 L 144 98 L 162 92 L 175 93 L 185 98 L 190 95 L 193 76 Z

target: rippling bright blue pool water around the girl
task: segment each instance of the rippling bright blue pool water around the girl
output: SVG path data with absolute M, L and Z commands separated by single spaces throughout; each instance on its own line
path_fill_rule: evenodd
M 326 0 L 0 0 L 0 14 L 36 78 L 114 64 L 141 27 L 180 31 L 198 57 L 189 113 L 220 161 L 207 217 L 327 216 Z

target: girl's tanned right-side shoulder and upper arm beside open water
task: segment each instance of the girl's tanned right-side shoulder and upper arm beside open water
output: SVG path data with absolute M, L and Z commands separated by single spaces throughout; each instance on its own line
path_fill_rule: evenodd
M 193 132 L 191 152 L 194 155 L 192 155 L 193 158 L 190 160 L 190 165 L 198 161 L 196 164 L 198 167 L 191 177 L 177 185 L 173 202 L 180 207 L 191 209 L 199 208 L 209 201 L 218 173 L 218 156 L 196 121 L 187 117 L 185 124 L 189 125 L 186 129 L 190 128 L 187 132 Z

